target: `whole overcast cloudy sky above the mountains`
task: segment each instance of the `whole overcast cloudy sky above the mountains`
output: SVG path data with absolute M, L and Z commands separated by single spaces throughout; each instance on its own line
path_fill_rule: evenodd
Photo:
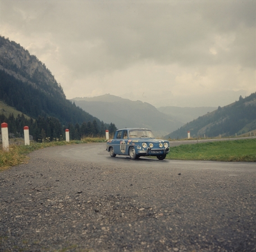
M 225 106 L 256 91 L 254 0 L 0 0 L 0 35 L 67 99 Z

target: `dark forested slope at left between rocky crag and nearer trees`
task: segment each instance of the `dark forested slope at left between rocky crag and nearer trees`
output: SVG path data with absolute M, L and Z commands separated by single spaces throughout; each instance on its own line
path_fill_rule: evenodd
M 36 118 L 41 116 L 53 116 L 62 124 L 93 122 L 99 119 L 86 113 L 74 103 L 58 96 L 50 96 L 32 85 L 26 84 L 15 77 L 0 70 L 0 100 L 6 102 L 22 113 Z

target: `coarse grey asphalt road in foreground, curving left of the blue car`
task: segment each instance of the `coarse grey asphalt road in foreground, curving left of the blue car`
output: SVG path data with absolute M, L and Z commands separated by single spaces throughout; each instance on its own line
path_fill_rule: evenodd
M 0 173 L 0 251 L 256 251 L 256 164 L 49 147 Z

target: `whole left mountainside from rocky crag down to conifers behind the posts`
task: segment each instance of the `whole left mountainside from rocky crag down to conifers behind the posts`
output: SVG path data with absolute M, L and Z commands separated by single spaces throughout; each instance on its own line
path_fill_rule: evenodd
M 12 136 L 22 136 L 25 125 L 36 141 L 61 139 L 66 128 L 71 139 L 103 136 L 106 129 L 115 132 L 115 124 L 104 123 L 67 100 L 51 71 L 20 44 L 0 36 L 0 48 L 0 100 L 22 113 L 0 115 Z

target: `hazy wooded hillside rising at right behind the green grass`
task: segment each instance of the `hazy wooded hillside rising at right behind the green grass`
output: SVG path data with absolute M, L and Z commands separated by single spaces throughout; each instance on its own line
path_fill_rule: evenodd
M 165 136 L 166 138 L 186 138 L 188 131 L 191 137 L 235 136 L 256 129 L 256 92 L 248 97 L 239 97 L 230 105 L 211 113 L 199 116 L 198 119 Z

